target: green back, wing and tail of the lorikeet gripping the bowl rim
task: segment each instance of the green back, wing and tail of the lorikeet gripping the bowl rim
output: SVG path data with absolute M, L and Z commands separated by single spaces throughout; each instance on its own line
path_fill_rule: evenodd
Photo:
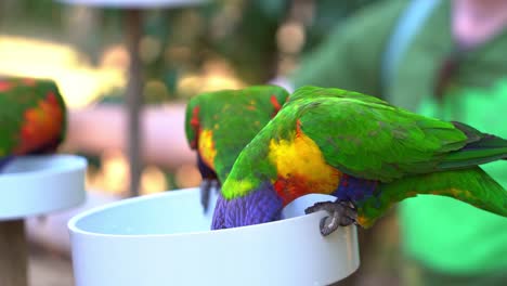
M 320 95 L 294 100 L 312 91 Z M 301 130 L 326 161 L 356 178 L 384 182 L 380 196 L 359 206 L 363 226 L 417 194 L 451 196 L 507 217 L 507 193 L 477 166 L 507 158 L 506 140 L 343 90 L 304 88 L 296 94 L 287 107 L 296 107 Z

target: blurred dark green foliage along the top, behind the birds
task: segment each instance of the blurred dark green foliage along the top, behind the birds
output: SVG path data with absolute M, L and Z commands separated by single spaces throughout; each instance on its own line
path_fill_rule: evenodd
M 160 103 L 183 96 L 178 89 L 182 77 L 204 73 L 214 60 L 245 84 L 265 82 L 277 70 L 276 34 L 283 23 L 300 17 L 304 53 L 340 21 L 374 1 L 211 0 L 197 6 L 146 10 L 141 41 L 145 100 Z M 106 47 L 123 41 L 123 13 L 53 0 L 3 0 L 0 31 L 70 42 L 96 64 Z M 108 95 L 114 99 L 105 102 L 121 101 L 120 94 L 121 90 L 113 92 Z

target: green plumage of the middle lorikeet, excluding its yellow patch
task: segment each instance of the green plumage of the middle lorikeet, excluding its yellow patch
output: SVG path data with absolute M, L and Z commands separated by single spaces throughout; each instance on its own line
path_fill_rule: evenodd
M 224 182 L 239 153 L 276 115 L 287 98 L 287 91 L 276 86 L 200 94 L 191 100 L 186 109 L 187 140 L 191 145 L 196 141 L 198 128 L 212 132 L 214 171 Z M 192 118 L 198 118 L 198 127 Z

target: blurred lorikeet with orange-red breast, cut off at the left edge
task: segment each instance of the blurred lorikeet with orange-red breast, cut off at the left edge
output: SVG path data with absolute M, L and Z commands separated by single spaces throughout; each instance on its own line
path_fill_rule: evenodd
M 56 151 L 66 130 L 66 108 L 56 84 L 0 78 L 0 172 L 15 156 Z

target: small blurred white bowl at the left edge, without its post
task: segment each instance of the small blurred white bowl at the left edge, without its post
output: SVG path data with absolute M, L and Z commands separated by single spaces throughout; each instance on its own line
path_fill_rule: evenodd
M 74 155 L 17 157 L 0 172 L 0 220 L 66 209 L 84 202 L 87 160 Z

